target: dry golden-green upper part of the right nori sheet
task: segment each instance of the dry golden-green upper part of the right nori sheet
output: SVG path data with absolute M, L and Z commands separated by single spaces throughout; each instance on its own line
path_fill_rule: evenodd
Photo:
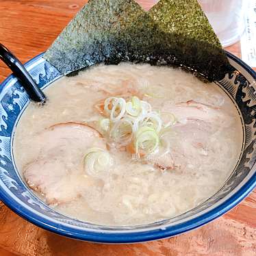
M 197 0 L 161 0 L 151 8 L 149 15 L 162 31 L 186 35 L 222 49 Z

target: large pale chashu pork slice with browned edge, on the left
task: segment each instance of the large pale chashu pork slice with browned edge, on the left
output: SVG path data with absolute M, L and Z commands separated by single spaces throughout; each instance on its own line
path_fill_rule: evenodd
M 47 203 L 68 203 L 99 183 L 83 168 L 88 149 L 106 149 L 104 138 L 91 127 L 81 123 L 53 125 L 36 135 L 34 145 L 37 158 L 25 166 L 23 175 Z

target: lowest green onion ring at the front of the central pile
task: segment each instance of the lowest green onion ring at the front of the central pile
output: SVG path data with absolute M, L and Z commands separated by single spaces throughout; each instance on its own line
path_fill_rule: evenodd
M 140 150 L 145 153 L 154 153 L 159 146 L 159 136 L 152 127 L 140 127 L 136 133 L 135 149 L 136 154 Z

